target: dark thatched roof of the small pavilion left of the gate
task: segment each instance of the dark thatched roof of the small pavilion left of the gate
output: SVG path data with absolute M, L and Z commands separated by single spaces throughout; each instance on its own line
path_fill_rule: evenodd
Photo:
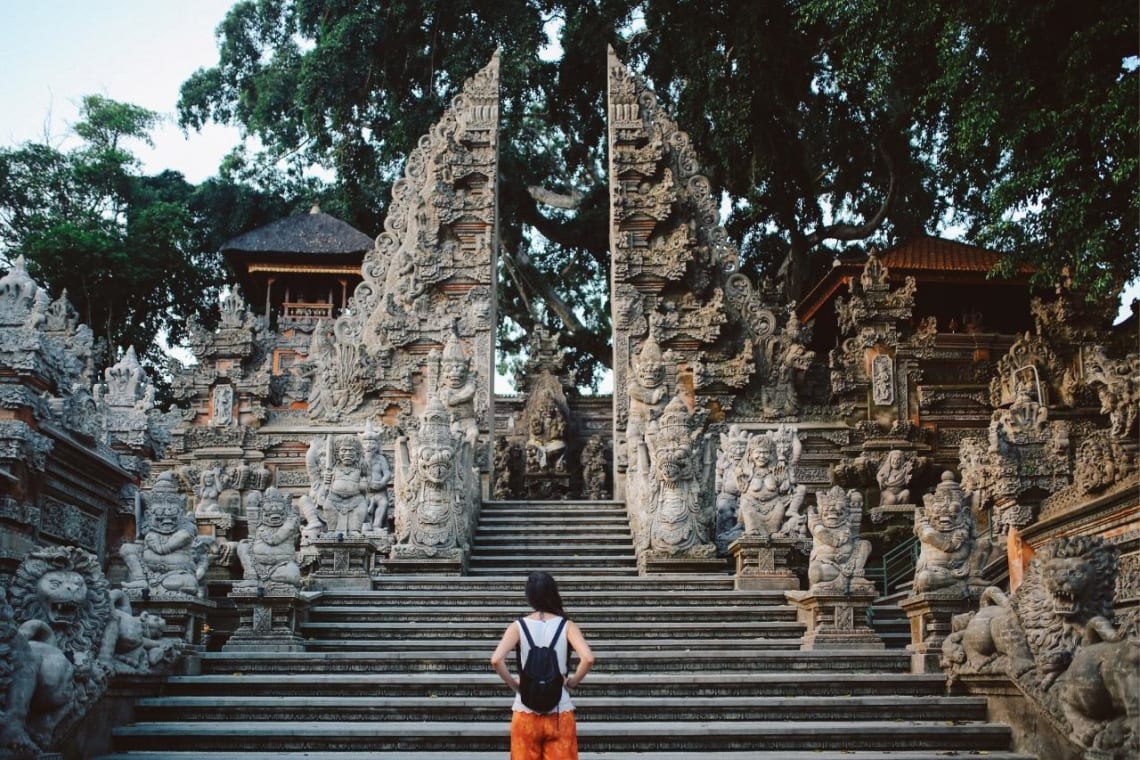
M 221 246 L 230 253 L 359 254 L 372 248 L 373 239 L 347 222 L 329 216 L 317 206 L 307 214 L 259 227 Z

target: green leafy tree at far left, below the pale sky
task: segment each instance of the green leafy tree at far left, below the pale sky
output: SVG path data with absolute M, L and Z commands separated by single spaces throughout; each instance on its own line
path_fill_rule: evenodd
M 74 149 L 0 149 L 2 254 L 24 255 L 42 285 L 67 291 L 105 348 L 100 366 L 114 360 L 111 349 L 135 345 L 160 367 L 160 333 L 176 344 L 187 316 L 210 321 L 225 279 L 220 243 L 284 207 L 221 180 L 195 187 L 177 172 L 142 174 L 129 145 L 149 140 L 153 112 L 89 96 L 80 116 Z

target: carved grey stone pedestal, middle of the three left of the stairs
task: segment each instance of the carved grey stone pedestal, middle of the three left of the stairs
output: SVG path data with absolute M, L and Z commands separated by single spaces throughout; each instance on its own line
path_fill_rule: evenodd
M 298 627 L 309 611 L 310 596 L 293 588 L 238 581 L 229 593 L 237 607 L 238 627 L 223 652 L 303 652 Z

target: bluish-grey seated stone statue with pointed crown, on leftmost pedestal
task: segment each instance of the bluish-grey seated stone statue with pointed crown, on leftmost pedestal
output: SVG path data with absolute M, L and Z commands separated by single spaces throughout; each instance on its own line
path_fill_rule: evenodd
M 201 583 L 210 566 L 206 539 L 198 537 L 172 472 L 158 476 L 146 499 L 139 537 L 124 544 L 120 554 L 129 573 L 123 588 L 136 598 L 144 591 L 154 598 L 204 594 Z

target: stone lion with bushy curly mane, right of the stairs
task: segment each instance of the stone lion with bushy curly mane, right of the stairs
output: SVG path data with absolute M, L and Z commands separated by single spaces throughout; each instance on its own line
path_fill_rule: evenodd
M 1047 544 L 1011 596 L 990 587 L 980 608 L 954 619 L 943 644 L 943 668 L 960 673 L 1005 672 L 1042 692 L 1073 662 L 1091 635 L 1116 640 L 1113 596 L 1116 553 L 1088 536 Z

